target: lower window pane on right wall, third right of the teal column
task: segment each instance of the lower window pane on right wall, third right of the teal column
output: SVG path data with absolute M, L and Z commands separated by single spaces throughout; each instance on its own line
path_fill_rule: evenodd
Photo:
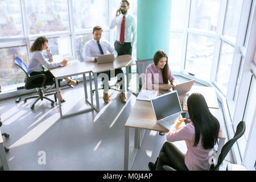
M 221 91 L 226 95 L 229 84 L 229 76 L 234 56 L 234 47 L 222 42 L 220 60 L 218 61 L 218 70 L 216 81 Z

